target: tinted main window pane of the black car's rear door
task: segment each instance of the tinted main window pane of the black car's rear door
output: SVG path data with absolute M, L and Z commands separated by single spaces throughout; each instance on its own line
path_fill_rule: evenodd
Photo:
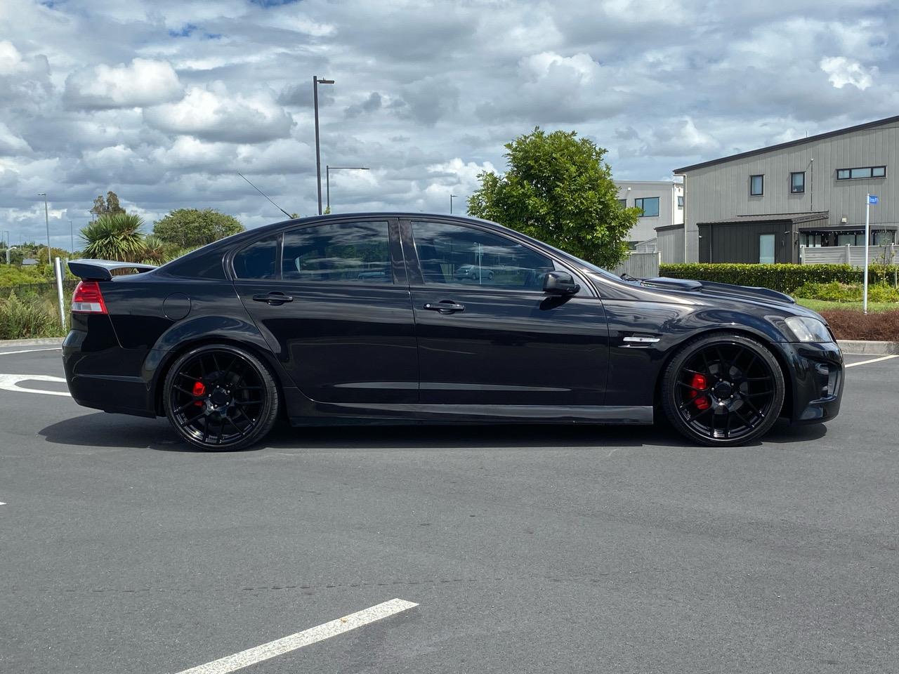
M 387 222 L 328 223 L 284 233 L 281 278 L 393 283 Z

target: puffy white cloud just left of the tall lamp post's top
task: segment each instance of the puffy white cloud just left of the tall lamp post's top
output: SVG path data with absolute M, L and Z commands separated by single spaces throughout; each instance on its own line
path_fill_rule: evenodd
M 259 143 L 289 137 L 293 118 L 271 93 L 229 93 L 225 84 L 191 86 L 182 101 L 144 111 L 147 124 L 203 140 Z

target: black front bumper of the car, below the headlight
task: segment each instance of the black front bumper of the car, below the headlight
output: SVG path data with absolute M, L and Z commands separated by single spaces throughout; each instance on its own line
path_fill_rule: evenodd
M 793 423 L 829 421 L 840 413 L 845 370 L 835 342 L 781 343 L 792 386 L 789 419 Z

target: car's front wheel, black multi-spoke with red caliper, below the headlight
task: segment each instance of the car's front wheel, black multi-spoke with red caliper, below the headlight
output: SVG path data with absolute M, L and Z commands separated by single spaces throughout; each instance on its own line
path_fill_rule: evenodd
M 705 445 L 742 445 L 777 421 L 784 377 L 763 344 L 713 334 L 686 344 L 665 368 L 662 406 L 682 435 Z

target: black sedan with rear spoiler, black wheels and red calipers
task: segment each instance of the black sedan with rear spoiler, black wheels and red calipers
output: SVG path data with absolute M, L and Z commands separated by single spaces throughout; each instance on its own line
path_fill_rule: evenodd
M 120 275 L 125 267 L 138 273 Z M 840 410 L 840 349 L 791 297 L 621 279 L 468 217 L 310 217 L 159 268 L 69 268 L 83 279 L 63 345 L 76 402 L 165 415 L 204 449 L 245 448 L 279 417 L 663 417 L 694 442 L 735 445 L 779 416 L 810 423 Z

